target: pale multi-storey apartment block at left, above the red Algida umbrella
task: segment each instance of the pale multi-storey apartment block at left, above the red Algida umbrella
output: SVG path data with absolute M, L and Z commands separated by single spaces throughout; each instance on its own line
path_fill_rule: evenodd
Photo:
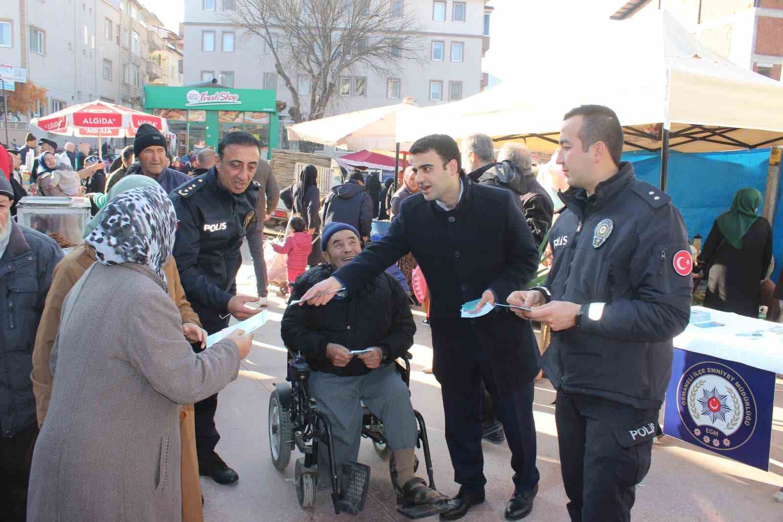
M 181 85 L 179 62 L 176 74 L 163 73 L 164 60 L 150 65 L 150 54 L 168 53 L 164 40 L 176 40 L 158 34 L 162 25 L 136 0 L 0 2 L 0 63 L 19 67 L 28 82 L 47 89 L 46 103 L 30 114 L 9 114 L 9 140 L 22 143 L 28 130 L 45 136 L 28 121 L 76 103 L 104 100 L 142 108 L 143 85 L 150 74 L 156 80 L 173 77 L 179 80 L 175 85 Z M 182 49 L 174 47 L 181 59 Z M 168 55 L 165 61 L 168 72 Z M 0 129 L 3 126 L 0 118 Z M 5 140 L 5 132 L 0 135 Z M 49 137 L 58 143 L 67 140 Z

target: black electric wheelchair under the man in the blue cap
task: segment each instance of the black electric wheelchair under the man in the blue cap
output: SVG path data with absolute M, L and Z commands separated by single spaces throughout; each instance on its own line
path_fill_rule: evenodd
M 328 451 L 332 502 L 334 513 L 357 514 L 364 509 L 367 490 L 370 484 L 370 467 L 359 462 L 344 462 L 340 469 L 335 466 L 332 430 L 329 420 L 316 406 L 316 400 L 310 397 L 308 379 L 312 372 L 310 365 L 299 353 L 288 350 L 287 382 L 275 384 L 275 390 L 269 397 L 269 450 L 272 464 L 276 469 L 286 469 L 290 462 L 291 451 L 295 448 L 304 455 L 296 460 L 294 481 L 299 505 L 308 508 L 316 501 L 318 474 L 318 452 Z M 402 357 L 404 368 L 396 364 L 402 380 L 410 387 L 410 353 Z M 391 484 L 395 485 L 394 455 L 388 448 L 384 424 L 381 419 L 364 408 L 362 437 L 373 441 L 373 447 L 381 459 L 389 460 Z M 416 447 L 424 451 L 424 466 L 427 469 L 429 488 L 435 489 L 432 475 L 432 459 L 424 417 L 413 410 L 418 424 Z M 419 461 L 416 459 L 416 468 Z M 446 510 L 443 504 L 428 506 L 407 506 L 398 489 L 397 503 L 400 513 L 410 518 L 428 517 Z

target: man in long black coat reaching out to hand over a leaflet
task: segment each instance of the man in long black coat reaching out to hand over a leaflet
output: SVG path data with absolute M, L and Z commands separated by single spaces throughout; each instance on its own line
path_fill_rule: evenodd
M 461 485 L 452 508 L 456 520 L 484 502 L 480 382 L 493 396 L 503 422 L 514 469 L 514 495 L 506 517 L 527 516 L 538 491 L 532 379 L 538 373 L 536 338 L 529 321 L 507 310 L 460 317 L 463 303 L 505 302 L 532 279 L 538 252 L 514 197 L 464 176 L 460 150 L 449 136 L 426 136 L 410 149 L 419 192 L 407 198 L 388 234 L 302 297 L 323 305 L 347 288 L 357 292 L 408 252 L 416 257 L 431 295 L 433 373 L 441 384 L 455 480 Z M 480 219 L 479 219 L 480 218 Z M 487 226 L 489 223 L 491 226 Z

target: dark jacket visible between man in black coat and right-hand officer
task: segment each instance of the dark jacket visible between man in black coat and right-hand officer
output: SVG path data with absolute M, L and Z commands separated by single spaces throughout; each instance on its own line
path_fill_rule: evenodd
M 468 177 L 490 187 L 511 190 L 517 196 L 519 208 L 525 213 L 536 247 L 541 246 L 547 232 L 552 228 L 554 203 L 547 190 L 536 181 L 532 170 L 523 172 L 515 163 L 502 161 L 484 165 L 471 172 Z

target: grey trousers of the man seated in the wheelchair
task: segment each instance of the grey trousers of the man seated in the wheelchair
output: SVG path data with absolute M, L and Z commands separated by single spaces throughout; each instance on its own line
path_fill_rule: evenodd
M 394 363 L 381 364 L 358 377 L 312 372 L 309 386 L 317 407 L 329 419 L 337 469 L 341 462 L 355 462 L 359 458 L 363 419 L 359 401 L 384 422 L 391 451 L 416 447 L 418 427 L 410 404 L 410 391 Z M 327 451 L 322 449 L 326 448 L 319 448 L 318 464 L 320 469 L 326 470 L 329 458 Z M 329 474 L 320 472 L 319 483 L 330 485 Z

